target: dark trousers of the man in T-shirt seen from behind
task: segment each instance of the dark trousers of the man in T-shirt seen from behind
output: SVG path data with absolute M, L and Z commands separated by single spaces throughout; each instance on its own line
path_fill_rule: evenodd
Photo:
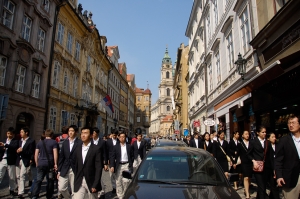
M 36 183 L 33 188 L 32 196 L 33 198 L 38 198 L 43 179 L 46 175 L 49 173 L 49 167 L 48 166 L 38 166 L 37 167 L 37 175 L 36 175 Z M 54 193 L 54 178 L 49 178 L 47 185 L 46 185 L 46 198 L 52 198 L 52 195 Z

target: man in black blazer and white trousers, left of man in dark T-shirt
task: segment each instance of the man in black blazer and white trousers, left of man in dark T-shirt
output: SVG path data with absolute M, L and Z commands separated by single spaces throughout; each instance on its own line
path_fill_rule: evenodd
M 29 137 L 30 131 L 23 127 L 20 131 L 21 140 L 19 141 L 19 148 L 17 149 L 16 159 L 16 175 L 18 182 L 18 196 L 23 198 L 25 187 L 25 175 L 27 169 L 34 160 L 35 141 Z

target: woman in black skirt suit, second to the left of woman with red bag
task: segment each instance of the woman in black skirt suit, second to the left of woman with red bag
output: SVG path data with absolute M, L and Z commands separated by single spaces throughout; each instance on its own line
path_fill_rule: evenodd
M 239 148 L 238 146 L 240 145 L 240 133 L 238 131 L 235 131 L 233 133 L 233 137 L 229 142 L 229 150 L 230 150 L 230 158 L 232 161 L 232 166 L 230 168 L 229 173 L 235 174 L 233 175 L 230 180 L 233 181 L 234 184 L 234 189 L 238 189 L 238 181 L 239 181 L 239 174 L 241 173 L 241 165 L 240 162 L 238 162 L 239 159 Z

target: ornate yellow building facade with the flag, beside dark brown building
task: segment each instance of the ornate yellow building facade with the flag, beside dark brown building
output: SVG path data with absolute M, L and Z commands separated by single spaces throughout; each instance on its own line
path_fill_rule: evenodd
M 47 128 L 76 124 L 97 126 L 105 133 L 106 114 L 100 103 L 107 94 L 110 61 L 106 37 L 99 35 L 92 13 L 67 1 L 58 14 L 51 65 Z

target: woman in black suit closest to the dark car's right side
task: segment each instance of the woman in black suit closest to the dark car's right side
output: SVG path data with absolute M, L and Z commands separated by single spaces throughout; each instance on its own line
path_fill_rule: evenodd
M 218 139 L 216 142 L 213 143 L 213 155 L 217 159 L 218 163 L 220 164 L 227 178 L 228 178 L 229 168 L 228 168 L 228 161 L 226 155 L 229 155 L 229 153 L 230 153 L 229 144 L 225 140 L 225 132 L 219 131 Z

